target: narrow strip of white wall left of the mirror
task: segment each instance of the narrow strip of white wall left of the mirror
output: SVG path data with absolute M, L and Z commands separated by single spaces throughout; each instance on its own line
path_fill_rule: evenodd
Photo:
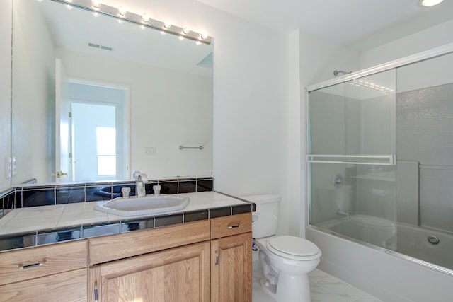
M 11 157 L 11 1 L 0 1 L 0 192 L 8 189 L 6 158 Z

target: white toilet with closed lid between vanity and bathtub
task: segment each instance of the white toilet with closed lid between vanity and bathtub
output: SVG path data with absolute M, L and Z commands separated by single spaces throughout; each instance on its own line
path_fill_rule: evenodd
M 309 240 L 275 236 L 280 196 L 273 194 L 241 197 L 256 203 L 252 214 L 252 236 L 263 265 L 261 286 L 278 302 L 309 302 L 308 273 L 319 264 L 321 250 Z

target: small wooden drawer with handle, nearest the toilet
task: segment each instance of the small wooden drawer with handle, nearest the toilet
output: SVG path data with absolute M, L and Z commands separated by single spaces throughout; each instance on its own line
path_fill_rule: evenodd
M 239 214 L 211 219 L 211 239 L 252 231 L 252 214 Z

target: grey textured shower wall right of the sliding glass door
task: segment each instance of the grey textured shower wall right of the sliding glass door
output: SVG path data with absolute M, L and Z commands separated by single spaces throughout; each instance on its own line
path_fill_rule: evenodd
M 420 223 L 452 230 L 453 83 L 398 93 L 396 110 L 398 158 L 420 162 Z

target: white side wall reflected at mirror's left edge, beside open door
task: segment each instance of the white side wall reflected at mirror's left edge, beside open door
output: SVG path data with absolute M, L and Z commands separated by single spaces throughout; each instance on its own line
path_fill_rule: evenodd
M 55 173 L 55 161 L 42 161 L 55 158 L 55 144 L 42 144 L 50 134 L 55 135 L 55 124 L 49 122 L 55 120 L 55 56 L 47 27 L 36 13 L 38 5 L 37 1 L 21 1 L 14 6 L 12 149 L 18 175 L 13 178 L 15 184 L 30 178 L 48 182 L 50 173 Z

